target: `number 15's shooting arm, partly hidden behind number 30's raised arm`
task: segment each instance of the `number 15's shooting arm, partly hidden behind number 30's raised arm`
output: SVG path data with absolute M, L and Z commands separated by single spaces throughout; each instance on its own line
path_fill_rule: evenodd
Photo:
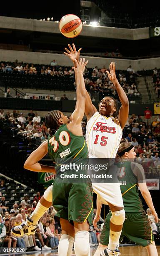
M 75 59 L 77 60 L 77 62 L 79 62 L 80 51 L 81 51 L 82 48 L 80 48 L 77 51 L 76 48 L 75 48 L 75 44 L 72 44 L 72 47 L 70 46 L 70 44 L 68 44 L 68 47 L 69 47 L 70 50 L 65 48 L 66 52 L 64 52 L 64 54 L 67 55 L 68 57 L 70 57 L 71 61 L 73 61 L 74 67 L 76 68 Z M 75 73 L 75 82 L 77 84 L 77 74 L 76 73 Z M 92 115 L 94 115 L 94 113 L 97 112 L 97 109 L 92 104 L 92 101 L 90 99 L 90 95 L 87 92 L 87 90 L 85 90 L 85 93 L 86 93 L 85 115 L 87 116 L 87 121 L 88 121 L 92 117 Z

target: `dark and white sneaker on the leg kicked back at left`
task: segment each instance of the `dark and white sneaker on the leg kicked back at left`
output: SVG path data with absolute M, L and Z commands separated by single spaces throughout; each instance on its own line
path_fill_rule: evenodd
M 22 224 L 20 224 L 19 226 L 15 226 L 14 228 L 12 228 L 11 233 L 14 236 L 18 236 L 18 237 L 23 236 L 25 234 L 30 236 L 30 235 L 35 235 L 36 228 L 37 226 L 33 225 L 32 220 L 27 218 L 27 220 Z

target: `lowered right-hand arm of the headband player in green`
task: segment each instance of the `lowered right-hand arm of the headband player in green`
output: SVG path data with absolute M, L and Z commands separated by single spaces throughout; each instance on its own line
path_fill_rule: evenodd
M 145 182 L 145 172 L 144 172 L 143 166 L 138 163 L 131 163 L 131 169 L 133 170 L 133 173 L 137 176 L 140 192 L 141 192 L 146 204 L 152 211 L 152 214 L 155 216 L 155 222 L 158 223 L 158 215 L 157 215 L 157 212 L 155 211 L 152 197 L 150 195 L 147 184 Z

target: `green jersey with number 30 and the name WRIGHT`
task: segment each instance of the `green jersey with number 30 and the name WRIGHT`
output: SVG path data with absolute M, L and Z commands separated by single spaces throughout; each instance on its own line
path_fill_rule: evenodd
M 57 173 L 60 165 L 68 163 L 69 159 L 87 158 L 88 149 L 83 136 L 76 136 L 63 124 L 53 136 L 48 137 L 48 154 L 56 163 Z

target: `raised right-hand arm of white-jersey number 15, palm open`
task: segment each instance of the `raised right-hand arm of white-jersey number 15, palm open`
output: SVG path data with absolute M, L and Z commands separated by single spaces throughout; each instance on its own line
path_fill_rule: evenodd
M 128 101 L 128 97 L 125 94 L 124 90 L 122 89 L 122 87 L 120 86 L 118 79 L 116 78 L 116 74 L 115 74 L 115 62 L 111 62 L 110 64 L 110 72 L 107 72 L 108 78 L 110 79 L 110 81 L 112 81 L 112 83 L 115 86 L 115 89 L 117 91 L 118 97 L 120 99 L 121 102 L 121 107 L 119 110 L 119 115 L 118 115 L 118 120 L 120 122 L 120 126 L 123 129 L 125 127 L 125 124 L 127 122 L 128 119 L 128 114 L 129 114 L 129 101 Z

